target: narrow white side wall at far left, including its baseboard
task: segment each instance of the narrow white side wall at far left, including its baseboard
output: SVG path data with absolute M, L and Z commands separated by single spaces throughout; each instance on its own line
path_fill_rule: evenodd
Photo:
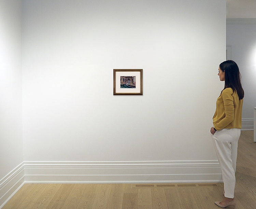
M 22 131 L 22 1 L 0 0 L 0 207 L 24 182 Z

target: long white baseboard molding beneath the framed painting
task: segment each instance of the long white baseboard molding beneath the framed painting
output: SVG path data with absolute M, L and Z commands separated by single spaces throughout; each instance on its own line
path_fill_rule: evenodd
M 26 183 L 222 182 L 218 161 L 24 162 Z

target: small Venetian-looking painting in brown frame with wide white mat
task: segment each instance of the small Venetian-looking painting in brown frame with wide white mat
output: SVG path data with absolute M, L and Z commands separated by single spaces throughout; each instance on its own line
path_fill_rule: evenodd
M 142 95 L 142 69 L 114 69 L 114 95 Z

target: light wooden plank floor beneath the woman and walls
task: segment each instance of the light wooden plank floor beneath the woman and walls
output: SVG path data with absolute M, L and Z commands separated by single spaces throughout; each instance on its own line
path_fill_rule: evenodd
M 236 208 L 255 209 L 253 131 L 241 132 L 236 179 Z M 25 184 L 3 209 L 218 209 L 222 193 L 223 184 Z

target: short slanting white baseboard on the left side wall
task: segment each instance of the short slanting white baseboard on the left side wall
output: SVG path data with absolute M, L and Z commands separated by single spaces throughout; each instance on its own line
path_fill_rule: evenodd
M 0 180 L 0 208 L 25 184 L 24 163 Z

